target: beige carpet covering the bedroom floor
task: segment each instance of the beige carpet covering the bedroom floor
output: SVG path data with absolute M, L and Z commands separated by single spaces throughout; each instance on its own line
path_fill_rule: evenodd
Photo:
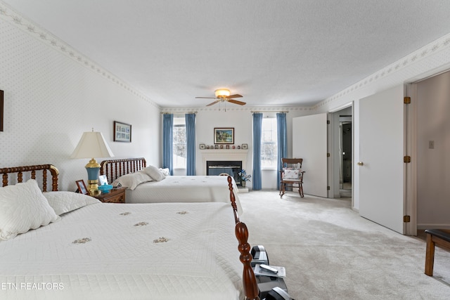
M 425 242 L 361 218 L 350 200 L 276 190 L 240 194 L 252 246 L 285 266 L 293 299 L 450 299 L 450 252 L 437 248 L 425 275 Z

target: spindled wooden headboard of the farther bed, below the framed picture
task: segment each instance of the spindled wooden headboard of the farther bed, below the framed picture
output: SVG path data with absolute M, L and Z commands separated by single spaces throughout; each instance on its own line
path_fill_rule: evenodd
M 147 162 L 143 157 L 108 159 L 100 163 L 100 175 L 106 175 L 108 183 L 113 183 L 120 176 L 137 172 L 145 167 Z

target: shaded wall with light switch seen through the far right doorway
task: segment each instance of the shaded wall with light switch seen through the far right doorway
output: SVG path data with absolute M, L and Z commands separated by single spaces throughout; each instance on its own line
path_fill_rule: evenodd
M 418 228 L 450 226 L 449 83 L 446 72 L 417 84 Z

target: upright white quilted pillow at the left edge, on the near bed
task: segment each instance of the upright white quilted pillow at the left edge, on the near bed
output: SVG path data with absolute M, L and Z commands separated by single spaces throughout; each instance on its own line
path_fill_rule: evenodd
M 0 188 L 1 240 L 59 220 L 34 179 Z

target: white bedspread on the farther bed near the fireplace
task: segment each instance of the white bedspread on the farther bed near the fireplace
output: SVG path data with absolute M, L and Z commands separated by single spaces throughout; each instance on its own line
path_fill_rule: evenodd
M 227 176 L 167 176 L 162 181 L 141 183 L 127 190 L 127 203 L 230 202 Z M 233 180 L 238 214 L 242 215 L 238 186 Z

